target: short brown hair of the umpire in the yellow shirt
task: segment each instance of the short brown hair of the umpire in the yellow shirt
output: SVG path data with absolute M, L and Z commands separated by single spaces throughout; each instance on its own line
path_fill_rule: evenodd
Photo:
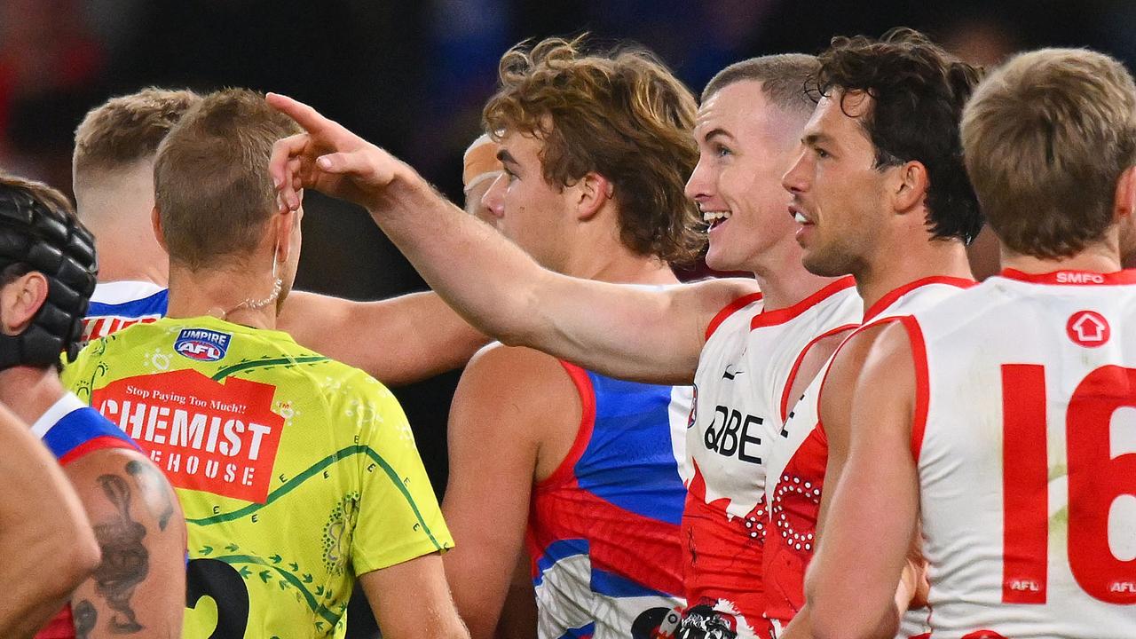
M 154 160 L 154 204 L 172 262 L 198 271 L 240 259 L 276 213 L 273 144 L 300 127 L 260 93 L 206 96 L 166 135 Z

